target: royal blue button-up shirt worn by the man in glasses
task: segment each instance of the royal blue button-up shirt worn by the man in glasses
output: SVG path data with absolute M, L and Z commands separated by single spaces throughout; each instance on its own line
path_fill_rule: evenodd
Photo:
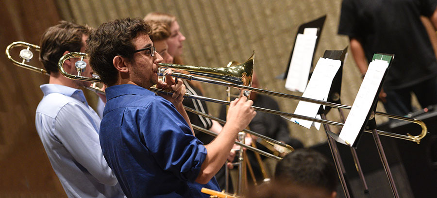
M 168 100 L 132 84 L 106 88 L 103 155 L 129 198 L 209 198 L 195 182 L 206 148 Z

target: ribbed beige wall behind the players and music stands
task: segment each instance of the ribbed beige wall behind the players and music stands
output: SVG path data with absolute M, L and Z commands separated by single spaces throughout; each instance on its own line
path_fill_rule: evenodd
M 274 77 L 286 70 L 300 24 L 327 15 L 315 60 L 325 50 L 348 46 L 348 38 L 337 35 L 341 0 L 58 0 L 63 18 L 97 27 L 121 17 L 143 17 L 151 11 L 175 15 L 186 37 L 185 63 L 222 67 L 235 60 L 243 62 L 255 51 L 255 71 L 262 88 L 289 94 L 285 81 Z M 352 55 L 343 69 L 341 100 L 352 105 L 361 83 Z M 206 96 L 225 99 L 225 88 L 204 84 Z M 294 112 L 297 101 L 277 98 L 281 110 Z M 218 115 L 218 105 L 208 104 Z M 380 109 L 382 105 L 379 105 Z M 348 112 L 346 112 L 348 113 Z M 337 120 L 335 111 L 328 118 Z M 325 133 L 290 123 L 291 135 L 305 146 L 326 141 Z M 333 128 L 337 131 L 338 129 Z

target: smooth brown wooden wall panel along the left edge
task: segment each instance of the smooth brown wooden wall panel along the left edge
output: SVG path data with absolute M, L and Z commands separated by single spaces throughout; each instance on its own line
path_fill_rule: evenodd
M 39 85 L 48 77 L 12 65 L 4 54 L 14 41 L 39 45 L 46 28 L 60 20 L 56 2 L 4 0 L 0 13 L 0 197 L 66 197 L 35 130 Z M 41 66 L 34 56 L 29 64 Z

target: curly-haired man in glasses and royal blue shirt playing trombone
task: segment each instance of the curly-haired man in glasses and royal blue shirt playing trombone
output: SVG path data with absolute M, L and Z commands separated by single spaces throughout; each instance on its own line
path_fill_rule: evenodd
M 117 19 L 101 24 L 87 40 L 90 65 L 108 85 L 100 131 L 103 155 L 129 198 L 209 198 L 201 188 L 219 190 L 214 175 L 237 133 L 256 115 L 252 101 L 232 101 L 229 122 L 203 146 L 182 105 L 182 81 L 158 82 L 162 57 L 150 32 L 140 18 Z M 173 95 L 157 96 L 147 89 L 154 84 Z

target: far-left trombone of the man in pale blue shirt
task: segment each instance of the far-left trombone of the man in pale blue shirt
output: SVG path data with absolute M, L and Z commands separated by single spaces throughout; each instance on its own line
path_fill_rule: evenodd
M 25 49 L 21 49 L 20 53 L 19 53 L 19 57 L 21 58 L 21 62 L 15 60 L 11 56 L 11 50 L 13 48 L 16 48 L 16 47 L 25 48 Z M 16 41 L 16 42 L 9 44 L 8 47 L 6 47 L 6 56 L 16 66 L 19 66 L 19 67 L 22 67 L 25 69 L 29 69 L 29 70 L 32 70 L 34 72 L 38 72 L 40 74 L 50 76 L 50 74 L 47 73 L 47 71 L 45 69 L 26 64 L 26 63 L 30 62 L 32 60 L 32 58 L 34 57 L 34 52 L 32 52 L 31 49 L 39 52 L 41 48 L 37 45 L 34 45 L 34 44 L 30 44 L 30 43 L 26 43 L 26 42 L 22 42 L 22 41 Z M 95 78 L 97 78 L 97 76 Z M 96 81 L 96 83 L 92 83 L 90 86 L 85 87 L 85 88 L 88 90 L 91 90 L 95 93 L 104 94 L 104 92 L 101 91 L 100 88 L 97 86 L 97 82 L 98 81 Z

